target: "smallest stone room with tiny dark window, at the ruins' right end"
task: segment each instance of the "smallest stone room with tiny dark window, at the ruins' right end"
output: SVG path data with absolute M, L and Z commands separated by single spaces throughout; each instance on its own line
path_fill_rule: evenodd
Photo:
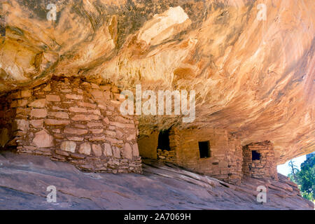
M 252 160 L 252 152 L 260 153 L 260 160 Z M 248 144 L 243 147 L 244 162 L 242 171 L 244 177 L 278 179 L 274 161 L 274 146 L 270 141 Z

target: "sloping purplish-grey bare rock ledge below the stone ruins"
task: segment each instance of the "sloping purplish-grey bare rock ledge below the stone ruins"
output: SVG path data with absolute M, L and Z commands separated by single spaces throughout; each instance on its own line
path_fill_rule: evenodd
M 297 186 L 251 179 L 235 186 L 172 165 L 148 163 L 144 175 L 94 174 L 36 155 L 0 152 L 0 209 L 314 209 Z M 46 188 L 57 189 L 57 203 L 46 202 Z M 267 203 L 258 203 L 266 186 Z

